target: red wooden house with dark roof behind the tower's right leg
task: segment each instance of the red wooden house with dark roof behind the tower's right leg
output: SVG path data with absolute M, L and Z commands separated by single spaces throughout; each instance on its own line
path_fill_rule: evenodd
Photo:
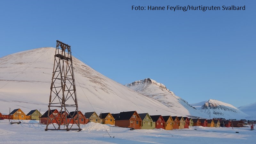
M 71 119 L 72 116 L 73 116 L 73 119 Z M 79 117 L 80 124 L 87 124 L 89 122 L 89 119 L 86 119 L 80 110 L 78 111 L 78 117 Z M 69 124 L 78 124 L 77 112 L 76 111 L 70 112 L 67 116 L 67 119 Z

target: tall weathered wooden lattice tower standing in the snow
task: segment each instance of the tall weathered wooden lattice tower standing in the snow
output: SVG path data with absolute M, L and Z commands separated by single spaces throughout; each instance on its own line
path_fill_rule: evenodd
M 54 58 L 45 131 L 81 131 L 71 47 L 57 40 Z M 56 113 L 56 109 L 60 110 L 59 113 Z M 73 111 L 73 115 L 67 116 L 71 111 Z M 70 124 L 70 122 L 73 122 L 73 124 Z

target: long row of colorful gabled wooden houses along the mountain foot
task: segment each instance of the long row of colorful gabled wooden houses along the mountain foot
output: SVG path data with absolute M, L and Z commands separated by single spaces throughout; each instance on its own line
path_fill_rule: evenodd
M 0 113 L 1 114 L 1 113 Z M 48 123 L 79 123 L 87 124 L 89 122 L 111 124 L 119 127 L 127 127 L 132 129 L 154 129 L 162 128 L 165 130 L 184 129 L 189 126 L 204 126 L 204 127 L 243 127 L 243 121 L 229 121 L 219 119 L 199 119 L 188 118 L 183 116 L 161 116 L 149 115 L 148 113 L 138 114 L 136 111 L 120 112 L 116 114 L 101 113 L 99 116 L 96 112 L 82 113 L 78 111 L 79 119 L 77 119 L 76 112 L 69 114 L 57 109 L 53 109 L 49 113 L 50 120 Z M 67 120 L 65 119 L 67 115 Z M 71 119 L 73 116 L 74 119 Z M 38 110 L 32 110 L 27 115 L 21 109 L 13 110 L 9 115 L 0 115 L 4 119 L 35 119 L 39 120 L 42 124 L 47 124 L 48 111 L 43 115 Z M 231 125 L 233 124 L 233 125 Z

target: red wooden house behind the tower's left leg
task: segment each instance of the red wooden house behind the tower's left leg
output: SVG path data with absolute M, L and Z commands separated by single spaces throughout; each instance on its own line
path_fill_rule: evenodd
M 41 124 L 47 124 L 47 117 L 48 117 L 48 112 L 47 110 L 41 117 L 40 117 L 40 123 Z M 49 124 L 60 124 L 60 113 L 57 109 L 51 109 L 49 113 Z

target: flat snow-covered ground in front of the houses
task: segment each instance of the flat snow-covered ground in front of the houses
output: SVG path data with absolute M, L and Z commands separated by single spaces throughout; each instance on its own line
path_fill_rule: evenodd
M 256 143 L 256 130 L 251 131 L 250 127 L 232 129 L 195 126 L 172 131 L 131 131 L 128 128 L 89 123 L 81 125 L 81 132 L 67 132 L 44 131 L 46 125 L 37 124 L 38 121 L 21 122 L 11 125 L 9 120 L 0 120 L 0 143 Z

